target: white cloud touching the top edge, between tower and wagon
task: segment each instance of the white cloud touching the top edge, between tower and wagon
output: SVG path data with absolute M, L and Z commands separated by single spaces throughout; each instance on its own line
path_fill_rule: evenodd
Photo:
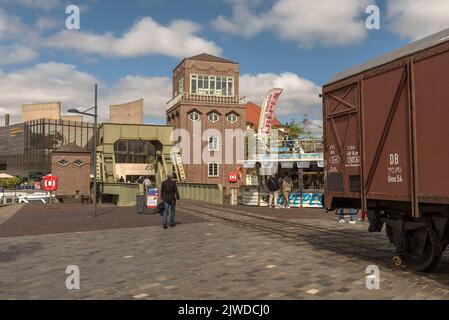
M 233 16 L 219 16 L 213 26 L 247 37 L 273 31 L 280 39 L 302 47 L 345 45 L 365 38 L 367 5 L 368 0 L 277 0 L 271 9 L 257 13 L 254 4 L 234 0 Z

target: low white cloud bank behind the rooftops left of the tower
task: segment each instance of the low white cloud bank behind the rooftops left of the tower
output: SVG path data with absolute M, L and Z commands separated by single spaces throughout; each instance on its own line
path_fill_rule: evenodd
M 93 105 L 93 86 L 99 83 L 100 119 L 109 117 L 109 106 L 145 99 L 145 115 L 165 120 L 165 103 L 170 99 L 168 77 L 127 76 L 107 87 L 101 79 L 76 66 L 49 62 L 7 73 L 0 69 L 0 114 L 9 113 L 21 121 L 20 106 L 27 103 L 61 101 L 63 111 L 74 106 Z

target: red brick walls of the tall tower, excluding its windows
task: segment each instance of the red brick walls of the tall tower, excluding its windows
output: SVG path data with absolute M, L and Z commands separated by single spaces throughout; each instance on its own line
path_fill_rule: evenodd
M 191 95 L 191 75 L 210 75 L 219 77 L 233 77 L 234 88 L 233 96 L 217 97 L 213 95 Z M 231 188 L 238 188 L 245 183 L 245 175 L 243 174 L 237 183 L 230 183 L 229 173 L 237 172 L 239 168 L 243 167 L 238 164 L 236 159 L 236 139 L 233 139 L 233 161 L 232 164 L 225 163 L 225 140 L 229 143 L 230 139 L 225 139 L 226 129 L 241 129 L 242 132 L 246 129 L 245 119 L 245 105 L 239 102 L 239 66 L 237 63 L 226 61 L 221 58 L 210 55 L 200 55 L 193 58 L 183 60 L 179 66 L 173 71 L 173 98 L 179 95 L 179 78 L 184 78 L 184 93 L 188 98 L 180 100 L 167 110 L 167 124 L 173 126 L 175 129 L 184 128 L 190 134 L 190 163 L 185 164 L 186 176 L 188 182 L 195 183 L 213 183 L 222 184 L 225 188 L 225 193 L 229 194 Z M 204 102 L 207 101 L 207 102 Z M 219 165 L 219 177 L 210 177 L 208 175 L 208 164 L 192 164 L 194 145 L 201 144 L 201 152 L 207 150 L 207 137 L 203 137 L 205 141 L 200 142 L 199 137 L 193 136 L 194 121 L 189 119 L 192 112 L 197 112 L 200 115 L 198 123 L 201 124 L 201 134 L 207 129 L 216 129 L 221 133 L 220 150 L 222 150 L 221 164 Z M 213 123 L 208 119 L 208 115 L 215 112 L 218 115 L 218 121 Z M 237 116 L 236 123 L 230 123 L 227 116 L 234 114 Z M 202 158 L 201 158 L 202 159 Z

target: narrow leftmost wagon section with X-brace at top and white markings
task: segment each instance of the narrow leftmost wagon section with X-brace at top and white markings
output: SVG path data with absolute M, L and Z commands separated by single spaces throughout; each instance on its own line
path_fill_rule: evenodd
M 326 93 L 325 207 L 343 206 L 340 199 L 360 201 L 359 85 Z

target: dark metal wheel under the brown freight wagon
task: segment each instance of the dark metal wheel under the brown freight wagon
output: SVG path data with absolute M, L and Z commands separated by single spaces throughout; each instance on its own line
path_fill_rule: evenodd
M 441 251 L 437 245 L 431 241 L 429 235 L 426 237 L 424 250 L 418 252 L 413 242 L 416 241 L 413 234 L 409 234 L 406 238 L 406 248 L 399 252 L 404 264 L 419 272 L 430 272 L 436 268 L 441 259 Z

